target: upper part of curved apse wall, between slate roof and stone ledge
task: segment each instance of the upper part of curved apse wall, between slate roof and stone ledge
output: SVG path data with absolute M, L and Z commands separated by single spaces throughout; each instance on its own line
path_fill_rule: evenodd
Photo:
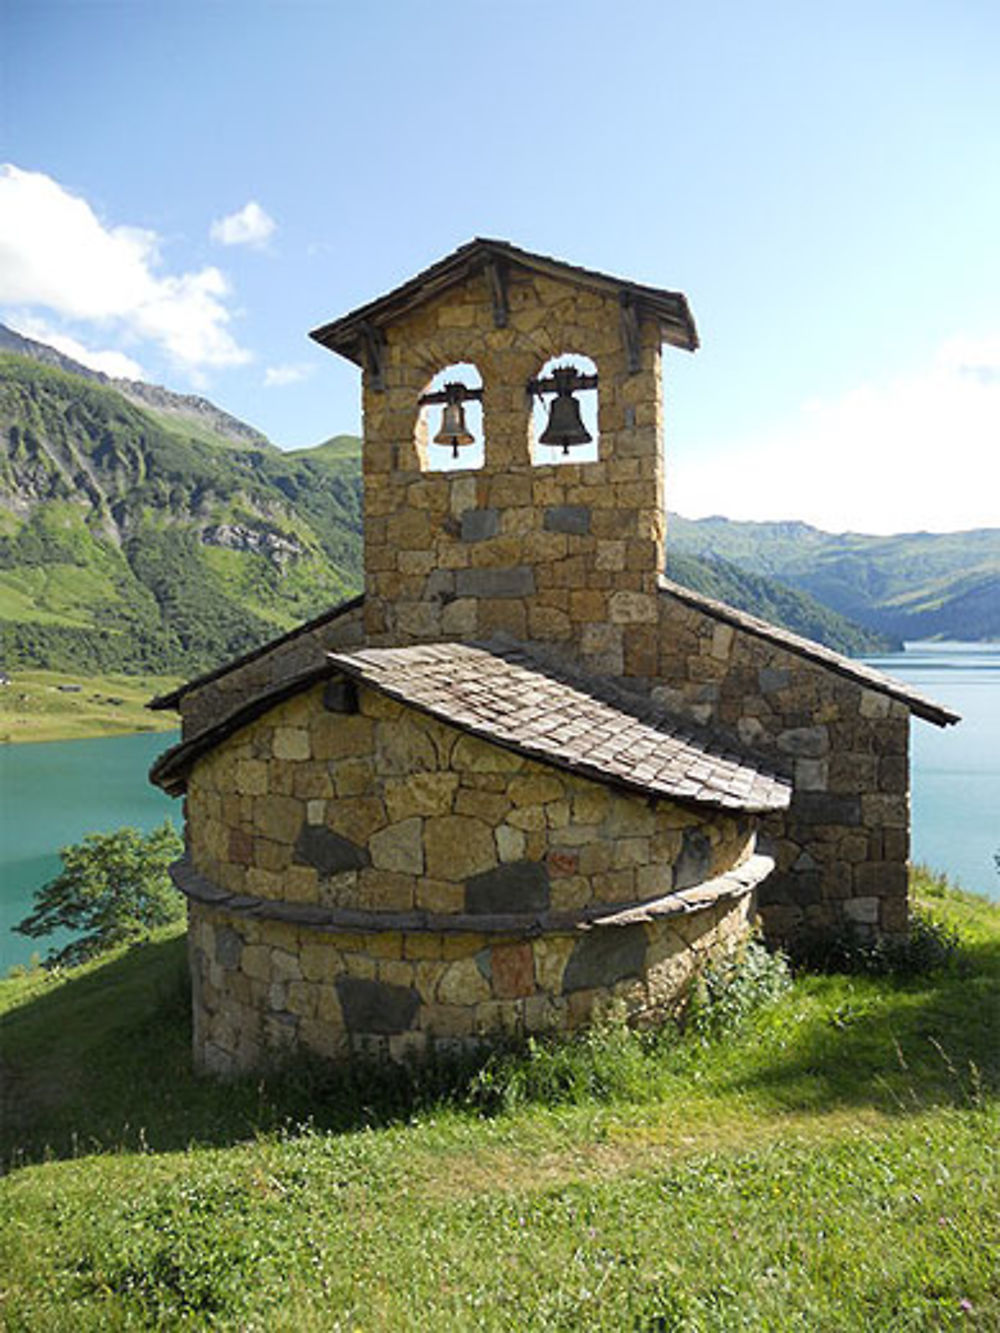
M 575 912 L 739 865 L 756 821 L 524 758 L 368 686 L 271 709 L 189 778 L 195 869 L 229 893 L 372 912 Z

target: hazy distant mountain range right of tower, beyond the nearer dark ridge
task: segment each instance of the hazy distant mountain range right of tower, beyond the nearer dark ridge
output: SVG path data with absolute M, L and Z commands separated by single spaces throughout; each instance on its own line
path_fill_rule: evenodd
M 777 579 L 897 639 L 1000 639 L 1000 528 L 877 537 L 672 515 L 669 549 Z

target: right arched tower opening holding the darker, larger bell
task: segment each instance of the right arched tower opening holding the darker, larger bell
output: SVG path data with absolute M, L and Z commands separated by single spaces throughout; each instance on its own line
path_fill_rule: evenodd
M 597 367 L 581 352 L 549 357 L 529 383 L 531 461 L 536 465 L 596 463 Z

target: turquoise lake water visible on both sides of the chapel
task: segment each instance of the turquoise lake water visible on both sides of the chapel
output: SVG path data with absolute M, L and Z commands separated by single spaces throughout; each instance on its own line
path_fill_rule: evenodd
M 868 661 L 963 716 L 944 730 L 912 724 L 913 860 L 1000 898 L 1000 645 L 911 644 Z M 52 942 L 12 926 L 59 873 L 60 846 L 124 824 L 152 829 L 169 817 L 180 828 L 180 801 L 147 781 L 175 740 L 160 732 L 0 746 L 0 976 Z

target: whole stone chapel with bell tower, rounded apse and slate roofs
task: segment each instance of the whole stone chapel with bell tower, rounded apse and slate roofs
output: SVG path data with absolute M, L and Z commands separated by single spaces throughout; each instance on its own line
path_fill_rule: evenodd
M 685 297 L 479 239 L 312 337 L 364 592 L 152 704 L 197 1065 L 653 1021 L 755 917 L 904 933 L 909 717 L 957 717 L 664 576 Z

